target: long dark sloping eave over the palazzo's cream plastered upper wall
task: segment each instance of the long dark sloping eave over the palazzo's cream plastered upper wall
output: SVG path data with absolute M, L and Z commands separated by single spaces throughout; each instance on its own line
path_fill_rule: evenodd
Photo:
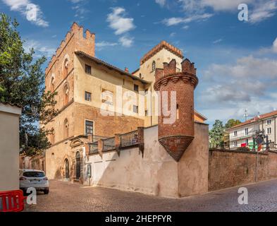
M 76 51 L 75 54 L 77 54 L 78 56 L 80 57 L 87 57 L 88 59 L 94 61 L 95 63 L 97 64 L 101 64 L 103 66 L 106 66 L 107 68 L 111 69 L 111 70 L 114 70 L 114 71 L 117 71 L 118 73 L 121 73 L 122 75 L 125 75 L 125 76 L 128 76 L 130 78 L 132 78 L 133 80 L 137 80 L 137 81 L 140 81 L 144 84 L 150 84 L 149 82 L 147 81 L 144 81 L 143 79 L 141 78 L 138 78 L 137 76 L 133 76 L 131 73 L 128 73 L 127 71 L 123 71 L 121 69 L 118 69 L 116 66 L 113 66 L 111 64 L 108 64 L 106 63 L 105 61 L 102 61 L 101 59 L 98 59 L 96 57 L 92 57 L 88 54 L 85 54 L 85 52 L 82 52 L 82 51 Z

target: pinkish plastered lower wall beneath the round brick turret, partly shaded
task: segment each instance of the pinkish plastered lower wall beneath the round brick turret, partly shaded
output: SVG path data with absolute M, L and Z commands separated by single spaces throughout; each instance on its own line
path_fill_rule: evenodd
M 208 191 L 208 126 L 196 124 L 195 142 L 180 162 L 168 155 L 158 141 L 158 126 L 144 129 L 144 155 L 137 146 L 83 157 L 85 185 L 167 197 L 183 197 Z M 205 148 L 205 145 L 207 146 Z M 91 168 L 91 169 L 90 169 Z M 91 177 L 90 177 L 91 171 Z

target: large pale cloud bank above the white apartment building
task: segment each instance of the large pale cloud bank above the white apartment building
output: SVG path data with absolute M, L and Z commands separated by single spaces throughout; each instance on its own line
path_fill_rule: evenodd
M 203 72 L 197 101 L 210 121 L 242 119 L 250 114 L 270 112 L 277 107 L 277 60 L 241 57 L 235 64 L 212 64 Z

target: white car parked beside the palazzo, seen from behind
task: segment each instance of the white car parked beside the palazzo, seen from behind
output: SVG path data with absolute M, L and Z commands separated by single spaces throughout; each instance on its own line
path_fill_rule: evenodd
M 37 191 L 43 191 L 49 194 L 49 181 L 45 173 L 36 169 L 20 169 L 19 171 L 20 189 L 24 192 L 28 188 L 35 188 Z

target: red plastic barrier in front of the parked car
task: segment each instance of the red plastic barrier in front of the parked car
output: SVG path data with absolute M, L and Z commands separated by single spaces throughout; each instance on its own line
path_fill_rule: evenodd
M 0 191 L 0 212 L 21 212 L 24 210 L 23 191 Z

